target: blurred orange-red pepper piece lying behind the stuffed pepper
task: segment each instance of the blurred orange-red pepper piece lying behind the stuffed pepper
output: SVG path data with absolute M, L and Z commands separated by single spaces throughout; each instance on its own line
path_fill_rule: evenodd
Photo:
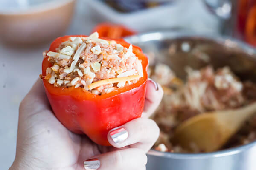
M 93 28 L 92 32 L 98 32 L 99 37 L 108 37 L 111 39 L 119 39 L 136 34 L 136 31 L 126 28 L 125 26 L 111 23 L 101 23 Z

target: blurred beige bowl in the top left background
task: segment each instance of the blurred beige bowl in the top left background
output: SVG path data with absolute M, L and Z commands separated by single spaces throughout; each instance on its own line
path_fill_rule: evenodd
M 64 34 L 76 0 L 52 0 L 26 10 L 0 12 L 0 40 L 12 44 L 47 42 Z

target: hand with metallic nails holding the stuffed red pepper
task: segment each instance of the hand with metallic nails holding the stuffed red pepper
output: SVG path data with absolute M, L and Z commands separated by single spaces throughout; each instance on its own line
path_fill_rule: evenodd
M 160 85 L 149 80 L 142 118 L 111 130 L 112 147 L 102 147 L 55 118 L 38 80 L 20 104 L 16 156 L 9 170 L 145 170 L 145 153 L 159 135 L 156 123 L 147 118 L 162 96 Z

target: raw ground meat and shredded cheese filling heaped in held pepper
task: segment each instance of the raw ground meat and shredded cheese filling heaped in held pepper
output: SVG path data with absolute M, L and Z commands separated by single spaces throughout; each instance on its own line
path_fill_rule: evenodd
M 57 52 L 48 51 L 52 63 L 44 79 L 55 87 L 81 87 L 103 95 L 143 77 L 141 61 L 132 45 L 125 48 L 115 41 L 99 39 L 97 32 L 89 37 L 70 37 Z

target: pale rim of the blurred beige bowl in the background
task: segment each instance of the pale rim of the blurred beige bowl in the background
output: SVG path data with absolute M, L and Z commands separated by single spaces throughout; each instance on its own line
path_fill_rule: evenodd
M 36 4 L 34 6 L 29 6 L 26 9 L 18 9 L 16 11 L 0 11 L 0 15 L 23 15 L 23 14 L 32 14 L 40 13 L 44 11 L 49 11 L 55 8 L 59 8 L 68 3 L 74 2 L 76 0 L 51 0 L 44 3 Z

